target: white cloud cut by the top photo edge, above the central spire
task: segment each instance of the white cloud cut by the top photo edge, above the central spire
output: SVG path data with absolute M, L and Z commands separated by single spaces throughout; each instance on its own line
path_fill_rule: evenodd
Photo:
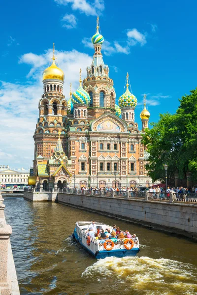
M 98 15 L 104 10 L 104 0 L 55 0 L 58 4 L 71 4 L 73 10 L 79 10 L 86 15 Z

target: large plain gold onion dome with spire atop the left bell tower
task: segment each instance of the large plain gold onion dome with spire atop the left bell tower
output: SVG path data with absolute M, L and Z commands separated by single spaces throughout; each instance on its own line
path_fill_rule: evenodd
M 64 81 L 65 74 L 55 63 L 55 47 L 53 43 L 53 61 L 52 64 L 46 68 L 42 74 L 42 80 L 45 79 L 59 79 Z

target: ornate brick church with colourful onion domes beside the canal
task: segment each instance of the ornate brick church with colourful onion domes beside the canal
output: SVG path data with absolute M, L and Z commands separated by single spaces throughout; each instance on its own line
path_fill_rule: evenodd
M 140 114 L 142 130 L 135 122 L 136 97 L 131 93 L 127 74 L 126 92 L 115 104 L 116 92 L 109 67 L 101 53 L 104 39 L 97 31 L 95 49 L 87 77 L 66 100 L 64 72 L 53 61 L 43 72 L 43 94 L 34 133 L 33 177 L 36 187 L 148 186 L 147 153 L 141 143 L 150 113 Z M 121 117 L 121 118 L 120 118 Z

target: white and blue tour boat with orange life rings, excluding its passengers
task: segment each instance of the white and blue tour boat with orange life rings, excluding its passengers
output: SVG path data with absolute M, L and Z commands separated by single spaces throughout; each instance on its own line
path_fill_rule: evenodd
M 134 256 L 139 252 L 139 240 L 137 237 L 99 240 L 88 236 L 87 229 L 91 223 L 92 221 L 77 221 L 72 236 L 97 259 L 108 256 Z M 102 229 L 105 231 L 106 228 L 113 230 L 107 224 L 95 222 L 95 225 L 98 232 L 101 232 Z

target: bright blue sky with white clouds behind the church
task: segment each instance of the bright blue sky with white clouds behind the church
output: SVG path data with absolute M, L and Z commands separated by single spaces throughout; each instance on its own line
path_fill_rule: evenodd
M 123 94 L 127 72 L 138 100 L 147 94 L 150 122 L 159 114 L 175 113 L 183 95 L 197 87 L 197 1 L 195 0 L 30 0 L 4 1 L 0 10 L 0 164 L 33 166 L 33 134 L 42 72 L 52 57 L 76 90 L 92 62 L 91 37 L 105 39 L 103 60 L 114 81 L 116 97 Z

